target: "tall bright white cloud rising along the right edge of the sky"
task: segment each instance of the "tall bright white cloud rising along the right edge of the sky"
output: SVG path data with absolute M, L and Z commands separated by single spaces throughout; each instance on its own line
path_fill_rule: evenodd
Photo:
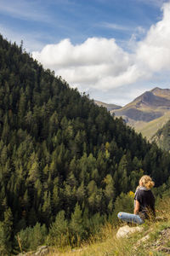
M 170 3 L 164 3 L 162 9 L 163 19 L 150 27 L 137 49 L 138 61 L 152 73 L 170 69 Z

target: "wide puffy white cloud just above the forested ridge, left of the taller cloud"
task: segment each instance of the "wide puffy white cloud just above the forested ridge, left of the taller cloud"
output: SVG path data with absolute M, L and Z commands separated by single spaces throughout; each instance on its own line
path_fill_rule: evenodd
M 83 44 L 73 45 L 69 39 L 59 44 L 48 44 L 33 57 L 63 76 L 76 86 L 100 87 L 101 90 L 116 87 L 131 67 L 129 55 L 114 39 L 88 38 Z M 131 72 L 130 72 L 131 73 Z M 131 75 L 131 74 L 130 74 Z

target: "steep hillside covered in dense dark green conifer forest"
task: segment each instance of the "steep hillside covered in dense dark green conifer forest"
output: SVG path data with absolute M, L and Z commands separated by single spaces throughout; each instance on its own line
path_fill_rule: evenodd
M 0 154 L 2 255 L 30 248 L 29 239 L 87 239 L 143 173 L 158 186 L 170 169 L 169 154 L 2 36 Z

